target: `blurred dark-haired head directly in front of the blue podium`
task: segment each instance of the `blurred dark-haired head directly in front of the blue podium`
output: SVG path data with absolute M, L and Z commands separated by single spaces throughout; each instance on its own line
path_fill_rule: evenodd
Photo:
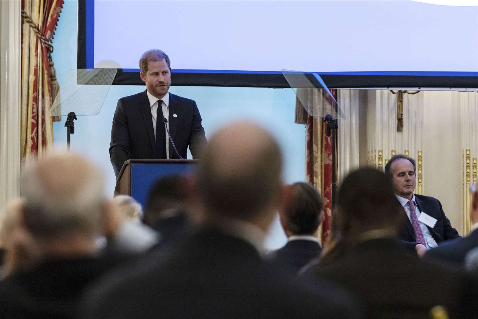
M 159 177 L 149 190 L 143 222 L 152 226 L 162 219 L 161 213 L 166 209 L 185 209 L 187 192 L 184 183 L 185 178 L 177 174 Z

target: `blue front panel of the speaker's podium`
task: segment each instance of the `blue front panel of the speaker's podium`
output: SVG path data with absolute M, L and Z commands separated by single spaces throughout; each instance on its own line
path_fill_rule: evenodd
M 144 209 L 148 192 L 159 177 L 173 174 L 194 172 L 196 163 L 187 164 L 132 164 L 131 165 L 131 197 L 136 199 Z

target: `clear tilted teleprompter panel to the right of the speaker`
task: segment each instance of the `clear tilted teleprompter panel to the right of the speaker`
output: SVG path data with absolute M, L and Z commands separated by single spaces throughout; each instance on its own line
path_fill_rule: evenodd
M 337 100 L 317 73 L 282 70 L 282 74 L 307 114 L 322 118 L 330 114 L 335 119 L 345 119 Z

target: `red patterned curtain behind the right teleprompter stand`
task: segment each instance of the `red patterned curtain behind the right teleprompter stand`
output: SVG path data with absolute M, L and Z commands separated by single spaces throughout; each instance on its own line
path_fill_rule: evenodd
M 337 90 L 331 90 L 331 92 L 337 100 Z M 305 99 L 309 101 L 309 107 L 324 103 L 333 105 L 329 96 L 321 89 L 309 89 L 298 94 L 307 95 Z M 305 124 L 305 181 L 317 187 L 324 201 L 325 219 L 319 232 L 321 242 L 324 244 L 332 229 L 332 136 L 326 136 L 326 124 L 323 118 L 308 115 L 299 99 L 296 99 L 295 122 Z

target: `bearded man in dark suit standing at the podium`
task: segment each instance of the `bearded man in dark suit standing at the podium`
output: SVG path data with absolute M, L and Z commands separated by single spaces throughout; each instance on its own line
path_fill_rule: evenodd
M 193 158 L 200 157 L 207 142 L 196 102 L 168 93 L 169 56 L 157 49 L 146 51 L 140 59 L 140 70 L 146 90 L 119 99 L 113 117 L 109 157 L 116 177 L 130 158 L 179 159 L 165 126 L 183 158 L 188 145 Z

